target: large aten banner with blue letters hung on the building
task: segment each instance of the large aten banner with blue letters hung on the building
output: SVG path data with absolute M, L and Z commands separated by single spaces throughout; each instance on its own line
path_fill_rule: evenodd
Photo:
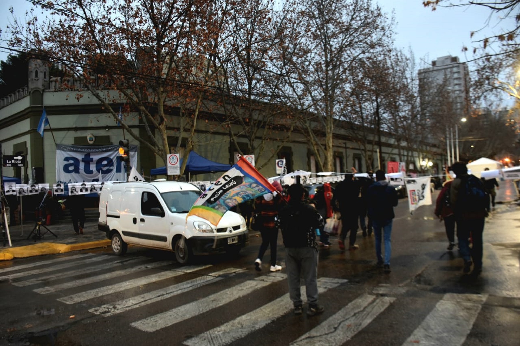
M 130 145 L 128 149 L 129 164 L 136 167 L 137 145 Z M 125 163 L 120 159 L 119 145 L 81 147 L 57 144 L 56 181 L 126 181 Z

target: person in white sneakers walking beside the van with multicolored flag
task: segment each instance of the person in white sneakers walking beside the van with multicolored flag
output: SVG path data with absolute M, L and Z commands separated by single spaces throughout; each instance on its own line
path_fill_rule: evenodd
M 271 248 L 271 272 L 282 270 L 281 265 L 276 264 L 277 242 L 278 242 L 278 226 L 276 217 L 278 211 L 284 203 L 281 195 L 282 186 L 278 181 L 274 181 L 272 186 L 275 187 L 277 193 L 268 193 L 255 199 L 255 214 L 261 221 L 260 234 L 262 235 L 262 245 L 258 250 L 258 257 L 255 260 L 255 270 L 262 270 L 262 258 L 264 257 L 267 247 Z

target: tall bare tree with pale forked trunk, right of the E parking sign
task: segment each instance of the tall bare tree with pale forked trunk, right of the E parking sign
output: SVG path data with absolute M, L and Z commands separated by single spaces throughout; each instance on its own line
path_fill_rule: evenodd
M 291 28 L 278 46 L 289 62 L 287 100 L 309 115 L 298 125 L 318 165 L 333 170 L 334 127 L 353 89 L 349 73 L 356 61 L 388 45 L 392 23 L 371 0 L 303 0 L 287 7 Z

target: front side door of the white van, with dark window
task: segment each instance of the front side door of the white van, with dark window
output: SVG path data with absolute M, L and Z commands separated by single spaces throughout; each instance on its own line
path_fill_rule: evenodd
M 170 248 L 170 224 L 168 214 L 160 202 L 160 196 L 151 190 L 142 191 L 138 220 L 139 238 L 144 245 Z

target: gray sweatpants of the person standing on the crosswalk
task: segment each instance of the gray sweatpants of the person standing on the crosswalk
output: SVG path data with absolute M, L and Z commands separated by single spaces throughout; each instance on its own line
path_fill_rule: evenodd
M 309 305 L 318 303 L 318 251 L 311 247 L 285 248 L 285 267 L 287 267 L 287 282 L 289 298 L 294 307 L 302 305 L 300 278 L 305 281 L 307 302 Z

